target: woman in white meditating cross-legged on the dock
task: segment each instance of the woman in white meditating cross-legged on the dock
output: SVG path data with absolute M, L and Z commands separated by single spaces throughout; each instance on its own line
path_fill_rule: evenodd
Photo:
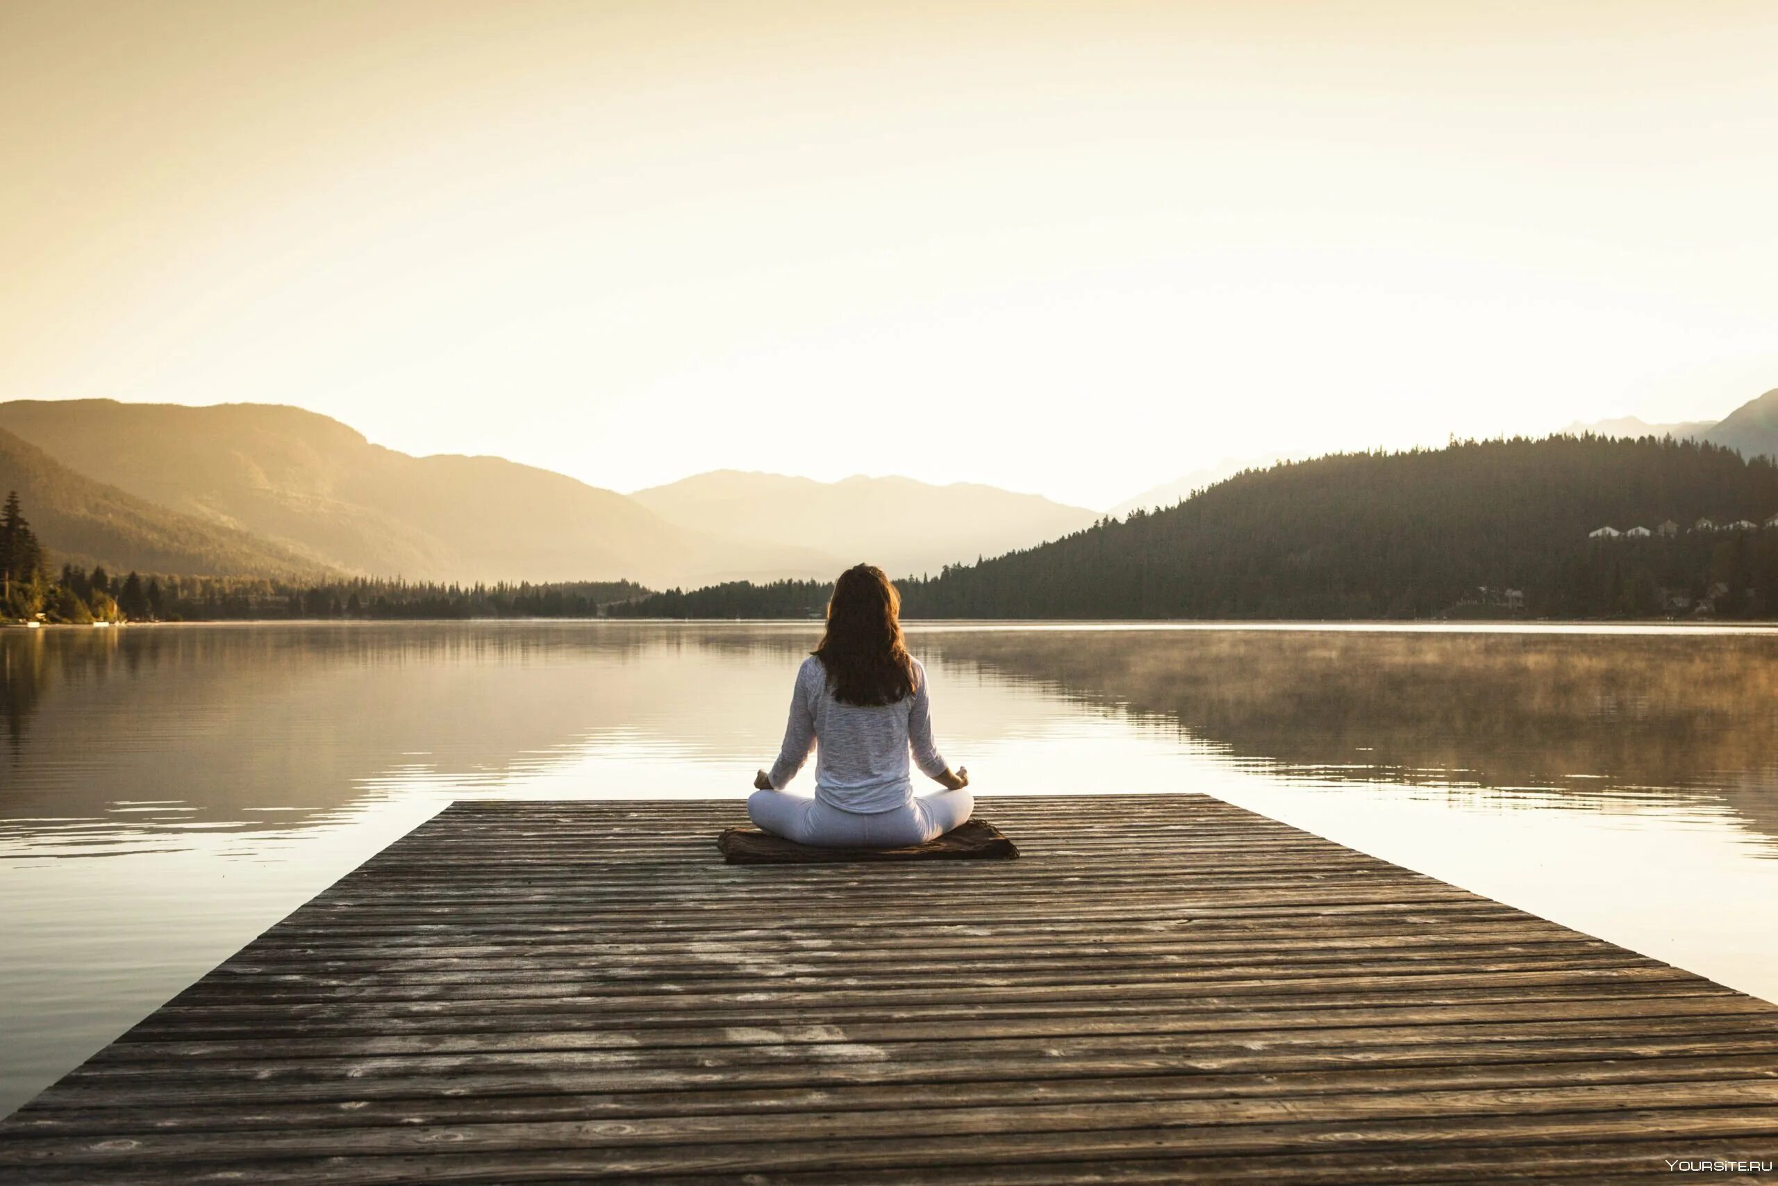
M 969 772 L 951 773 L 932 743 L 926 670 L 907 653 L 900 613 L 901 596 L 875 565 L 834 581 L 827 633 L 797 670 L 784 749 L 747 800 L 766 832 L 829 848 L 901 848 L 969 818 Z M 789 795 L 784 786 L 811 747 L 814 798 Z M 909 749 L 942 791 L 914 793 Z

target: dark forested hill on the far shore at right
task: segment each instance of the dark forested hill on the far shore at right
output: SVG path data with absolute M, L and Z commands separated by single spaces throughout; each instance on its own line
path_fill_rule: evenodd
M 1712 599 L 1721 612 L 1778 615 L 1778 530 L 1588 539 L 1598 526 L 1764 523 L 1774 512 L 1773 462 L 1712 445 L 1456 443 L 1243 473 L 1166 510 L 900 585 L 910 617 L 1433 617 L 1486 601 L 1481 587 L 1522 590 L 1529 615 L 1595 617 L 1666 612 L 1671 597 L 1694 603 L 1718 583 L 1730 589 Z M 743 589 L 653 606 L 782 615 L 818 596 L 759 590 L 750 608 Z

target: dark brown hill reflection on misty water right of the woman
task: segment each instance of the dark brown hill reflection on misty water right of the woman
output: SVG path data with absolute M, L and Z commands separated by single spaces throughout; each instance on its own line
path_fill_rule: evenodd
M 985 629 L 926 645 L 1273 775 L 1726 807 L 1778 837 L 1774 633 Z

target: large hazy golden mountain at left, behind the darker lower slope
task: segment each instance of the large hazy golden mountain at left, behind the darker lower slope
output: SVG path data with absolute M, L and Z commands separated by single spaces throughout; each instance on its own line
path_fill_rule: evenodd
M 21 400 L 0 404 L 0 429 L 137 498 L 354 574 L 670 581 L 813 562 L 685 532 L 548 469 L 409 457 L 297 407 Z

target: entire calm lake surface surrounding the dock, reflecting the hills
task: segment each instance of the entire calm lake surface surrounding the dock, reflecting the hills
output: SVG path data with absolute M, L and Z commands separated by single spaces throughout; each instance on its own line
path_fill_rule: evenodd
M 453 798 L 743 797 L 814 637 L 0 631 L 0 1113 Z M 1778 999 L 1778 633 L 910 642 L 981 793 L 1207 791 Z

